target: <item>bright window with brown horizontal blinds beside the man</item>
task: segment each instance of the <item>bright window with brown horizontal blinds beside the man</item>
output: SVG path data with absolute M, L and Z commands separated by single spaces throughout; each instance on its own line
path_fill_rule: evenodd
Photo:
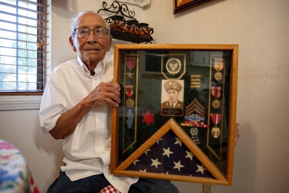
M 0 95 L 43 92 L 47 30 L 47 1 L 0 0 Z

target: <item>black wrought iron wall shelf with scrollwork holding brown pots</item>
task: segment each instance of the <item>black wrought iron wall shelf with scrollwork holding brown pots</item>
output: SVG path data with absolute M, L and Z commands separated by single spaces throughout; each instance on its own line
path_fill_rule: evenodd
M 148 27 L 148 24 L 139 23 L 134 18 L 135 12 L 128 9 L 125 4 L 114 1 L 110 7 L 107 3 L 102 2 L 103 9 L 100 11 L 108 11 L 115 15 L 105 18 L 104 20 L 110 24 L 110 33 L 114 39 L 125 40 L 134 43 L 150 42 L 154 40 L 151 36 L 154 29 Z M 126 20 L 125 18 L 128 18 Z

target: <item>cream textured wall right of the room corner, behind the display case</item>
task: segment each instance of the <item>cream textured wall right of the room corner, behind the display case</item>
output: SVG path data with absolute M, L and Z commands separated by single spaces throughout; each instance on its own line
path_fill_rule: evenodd
M 289 190 L 289 1 L 211 0 L 178 14 L 172 1 L 144 12 L 157 43 L 239 44 L 237 121 L 232 187 L 215 192 Z M 180 192 L 202 185 L 175 183 Z

